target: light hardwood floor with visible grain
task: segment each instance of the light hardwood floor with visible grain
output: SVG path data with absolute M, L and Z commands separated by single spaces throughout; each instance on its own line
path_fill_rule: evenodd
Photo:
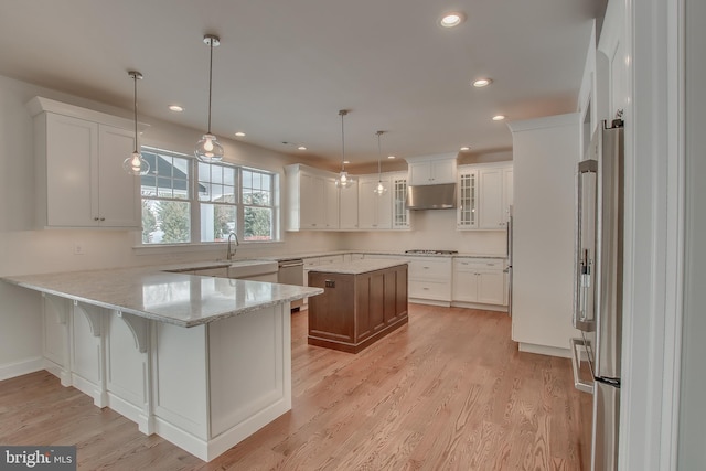
M 204 463 L 46 372 L 0 382 L 0 443 L 76 445 L 82 470 L 580 470 L 590 396 L 518 353 L 504 313 L 409 304 L 354 355 L 292 315 L 292 410 Z

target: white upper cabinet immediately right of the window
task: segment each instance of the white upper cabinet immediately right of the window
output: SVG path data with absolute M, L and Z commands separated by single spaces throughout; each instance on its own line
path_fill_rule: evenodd
M 287 231 L 339 228 L 339 189 L 330 172 L 286 165 Z

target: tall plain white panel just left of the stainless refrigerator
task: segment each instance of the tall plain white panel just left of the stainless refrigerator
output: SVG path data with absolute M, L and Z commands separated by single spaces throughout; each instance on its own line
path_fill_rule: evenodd
M 523 351 L 567 356 L 580 114 L 515 121 L 513 332 Z

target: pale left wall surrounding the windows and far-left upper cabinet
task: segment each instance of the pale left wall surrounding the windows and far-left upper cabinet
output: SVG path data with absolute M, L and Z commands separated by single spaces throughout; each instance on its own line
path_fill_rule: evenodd
M 36 231 L 34 224 L 34 161 L 32 117 L 25 103 L 40 95 L 98 111 L 130 118 L 129 110 L 69 96 L 0 76 L 0 276 L 51 271 L 143 266 L 225 255 L 222 246 L 194 250 L 135 250 L 138 236 L 127 231 Z M 191 153 L 199 130 L 141 117 L 149 129 L 142 143 Z M 293 160 L 285 154 L 242 142 L 224 140 L 227 160 L 282 172 Z M 243 244 L 238 256 L 335 250 L 335 234 L 284 233 L 284 242 L 270 245 Z M 81 243 L 84 255 L 74 255 Z M 35 365 L 41 355 L 40 297 L 0 282 L 0 378 Z

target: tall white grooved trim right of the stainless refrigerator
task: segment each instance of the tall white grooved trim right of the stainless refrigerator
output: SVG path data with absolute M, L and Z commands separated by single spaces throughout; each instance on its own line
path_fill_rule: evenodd
M 683 311 L 683 0 L 621 1 L 630 101 L 619 468 L 668 470 Z

